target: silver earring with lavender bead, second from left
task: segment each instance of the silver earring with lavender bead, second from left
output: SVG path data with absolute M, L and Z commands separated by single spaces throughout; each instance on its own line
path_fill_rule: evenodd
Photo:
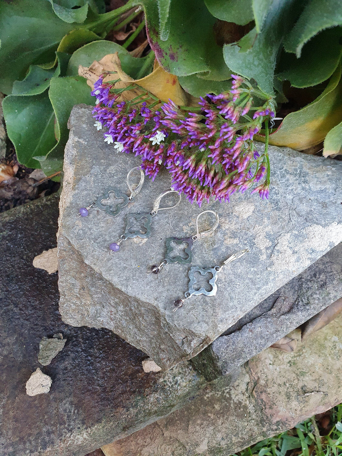
M 161 200 L 163 197 L 170 193 L 175 193 L 178 197 L 178 201 L 174 206 L 169 207 L 159 207 Z M 153 203 L 153 209 L 151 212 L 141 212 L 141 213 L 133 213 L 133 214 L 126 214 L 125 217 L 125 229 L 124 233 L 121 234 L 119 240 L 112 242 L 109 244 L 109 254 L 113 255 L 114 252 L 117 252 L 120 249 L 120 244 L 122 241 L 125 241 L 128 238 L 150 238 L 151 236 L 151 225 L 152 225 L 152 217 L 157 215 L 159 211 L 165 211 L 166 209 L 173 209 L 177 207 L 181 202 L 181 195 L 176 192 L 176 190 L 167 190 L 164 193 L 161 193 Z M 140 227 L 136 228 L 134 225 L 140 222 Z M 143 225 L 141 227 L 141 225 Z

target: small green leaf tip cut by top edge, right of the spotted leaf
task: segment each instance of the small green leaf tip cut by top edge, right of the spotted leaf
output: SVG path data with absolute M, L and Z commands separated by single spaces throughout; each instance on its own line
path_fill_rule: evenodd
M 212 16 L 244 26 L 253 21 L 252 0 L 205 0 Z

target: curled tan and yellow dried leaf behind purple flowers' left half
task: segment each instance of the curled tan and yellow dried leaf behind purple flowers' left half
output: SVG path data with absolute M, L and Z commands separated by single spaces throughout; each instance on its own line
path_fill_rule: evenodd
M 191 106 L 198 102 L 197 98 L 192 97 L 181 88 L 175 75 L 166 73 L 156 61 L 152 73 L 145 76 L 145 78 L 137 80 L 124 73 L 117 52 L 104 56 L 99 62 L 93 62 L 88 68 L 82 67 L 82 65 L 78 67 L 78 74 L 88 79 L 87 83 L 92 88 L 99 76 L 105 71 L 115 72 L 116 74 L 109 74 L 104 78 L 104 82 L 120 78 L 120 81 L 114 85 L 114 88 L 128 87 L 132 83 L 137 85 L 136 88 L 123 92 L 120 97 L 121 100 L 135 98 L 137 95 L 144 93 L 145 91 L 143 89 L 145 89 L 161 101 L 167 101 L 171 98 L 174 103 L 180 106 Z

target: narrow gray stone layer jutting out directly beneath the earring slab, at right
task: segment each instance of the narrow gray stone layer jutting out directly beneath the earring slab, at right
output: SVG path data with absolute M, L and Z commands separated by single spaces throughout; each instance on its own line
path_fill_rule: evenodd
M 342 244 L 270 295 L 192 364 L 207 380 L 226 375 L 342 296 Z

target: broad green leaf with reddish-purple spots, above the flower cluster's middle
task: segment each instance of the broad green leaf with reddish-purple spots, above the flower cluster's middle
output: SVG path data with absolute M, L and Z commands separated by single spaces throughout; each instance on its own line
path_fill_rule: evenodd
M 212 80 L 226 80 L 222 48 L 216 44 L 212 27 L 216 22 L 203 0 L 172 0 L 167 19 L 170 31 L 166 41 L 160 39 L 159 12 L 155 0 L 135 0 L 146 14 L 146 29 L 150 45 L 158 62 L 168 73 L 188 76 L 210 73 Z

